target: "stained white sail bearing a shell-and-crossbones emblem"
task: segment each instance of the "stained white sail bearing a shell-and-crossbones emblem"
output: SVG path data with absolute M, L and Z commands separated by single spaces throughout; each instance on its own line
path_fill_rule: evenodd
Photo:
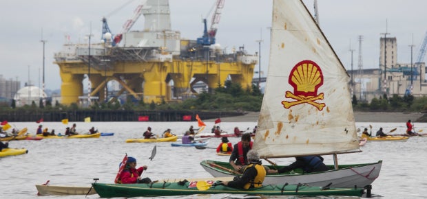
M 348 73 L 300 0 L 274 0 L 267 86 L 253 149 L 262 157 L 359 149 Z

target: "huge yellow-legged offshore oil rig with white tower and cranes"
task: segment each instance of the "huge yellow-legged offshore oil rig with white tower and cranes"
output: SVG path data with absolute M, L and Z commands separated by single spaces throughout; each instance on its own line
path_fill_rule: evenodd
M 231 54 L 222 51 L 215 36 L 220 11 L 225 0 L 216 1 L 210 29 L 204 20 L 203 35 L 196 40 L 183 40 L 180 32 L 171 30 L 169 0 L 147 0 L 138 5 L 123 30 L 112 35 L 103 19 L 101 43 L 63 45 L 54 54 L 59 65 L 61 104 L 107 100 L 107 82 L 121 85 L 118 95 L 132 95 L 145 103 L 185 100 L 197 94 L 197 82 L 204 82 L 207 91 L 231 80 L 250 88 L 258 54 L 249 55 L 244 47 Z M 145 17 L 144 29 L 129 31 L 138 17 Z M 88 78 L 87 96 L 83 96 L 83 80 Z

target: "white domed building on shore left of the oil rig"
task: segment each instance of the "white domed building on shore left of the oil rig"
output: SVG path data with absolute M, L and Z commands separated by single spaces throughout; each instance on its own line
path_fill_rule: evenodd
M 40 106 L 40 98 L 46 98 L 46 93 L 43 92 L 37 86 L 25 86 L 19 89 L 17 94 L 14 95 L 13 99 L 16 102 L 16 106 L 24 106 L 25 104 L 31 105 L 34 101 L 37 106 Z

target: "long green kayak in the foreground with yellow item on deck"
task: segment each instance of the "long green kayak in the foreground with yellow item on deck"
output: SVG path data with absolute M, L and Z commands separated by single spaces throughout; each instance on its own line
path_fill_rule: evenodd
M 183 196 L 193 194 L 247 194 L 247 195 L 298 195 L 298 196 L 362 196 L 361 188 L 332 188 L 311 187 L 308 185 L 265 185 L 253 189 L 234 189 L 223 185 L 216 185 L 212 180 L 187 181 L 178 183 L 150 183 L 150 184 L 105 184 L 92 183 L 96 193 L 101 198 L 113 197 L 155 197 L 155 196 Z

